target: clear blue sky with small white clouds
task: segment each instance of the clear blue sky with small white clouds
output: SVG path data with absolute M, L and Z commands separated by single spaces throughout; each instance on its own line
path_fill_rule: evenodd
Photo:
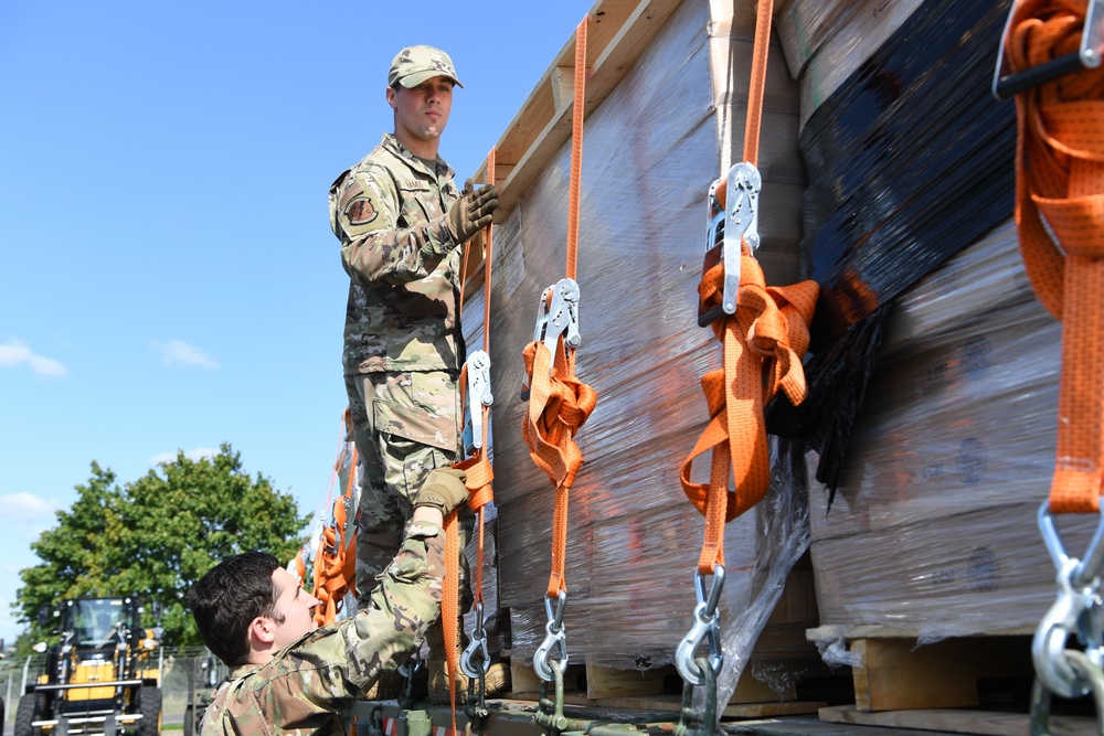
M 0 3 L 0 638 L 93 460 L 126 482 L 231 442 L 319 505 L 348 285 L 326 194 L 392 128 L 391 58 L 452 55 L 463 180 L 592 4 Z

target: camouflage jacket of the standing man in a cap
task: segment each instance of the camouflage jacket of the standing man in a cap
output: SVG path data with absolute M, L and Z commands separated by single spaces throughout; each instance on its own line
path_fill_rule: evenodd
M 460 244 L 445 212 L 459 198 L 391 134 L 330 186 L 330 227 L 349 274 L 346 374 L 459 370 Z

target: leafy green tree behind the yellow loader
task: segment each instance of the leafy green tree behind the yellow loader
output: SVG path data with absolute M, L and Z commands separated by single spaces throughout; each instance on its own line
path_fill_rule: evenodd
M 195 580 L 247 550 L 290 559 L 307 521 L 289 493 L 246 474 L 229 444 L 200 460 L 178 452 L 121 488 L 93 461 L 76 491 L 73 506 L 31 544 L 42 563 L 20 572 L 20 620 L 34 625 L 39 608 L 61 598 L 137 595 L 161 604 L 167 646 L 202 643 L 184 605 Z M 148 608 L 146 616 L 152 626 Z

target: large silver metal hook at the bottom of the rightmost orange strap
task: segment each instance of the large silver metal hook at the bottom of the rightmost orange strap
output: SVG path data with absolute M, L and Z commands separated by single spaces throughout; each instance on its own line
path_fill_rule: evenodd
M 1058 599 L 1036 629 L 1031 659 L 1036 675 L 1047 690 L 1060 697 L 1081 697 L 1092 690 L 1092 683 L 1070 664 L 1065 655 L 1066 641 L 1076 633 L 1089 661 L 1097 668 L 1104 666 L 1104 634 L 1095 610 L 1101 606 L 1104 514 L 1089 544 L 1084 562 L 1066 554 L 1049 501 L 1040 506 L 1038 519 L 1039 531 L 1058 569 Z

